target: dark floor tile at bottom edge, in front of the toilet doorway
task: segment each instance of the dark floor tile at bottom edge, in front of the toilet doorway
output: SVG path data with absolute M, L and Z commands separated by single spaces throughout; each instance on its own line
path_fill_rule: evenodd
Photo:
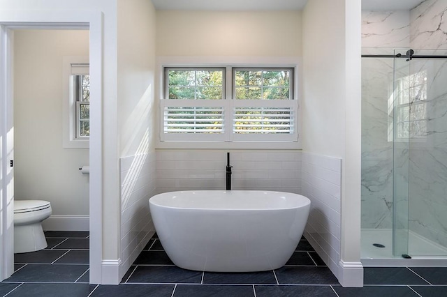
M 24 283 L 8 297 L 87 297 L 95 287 L 93 284 Z

